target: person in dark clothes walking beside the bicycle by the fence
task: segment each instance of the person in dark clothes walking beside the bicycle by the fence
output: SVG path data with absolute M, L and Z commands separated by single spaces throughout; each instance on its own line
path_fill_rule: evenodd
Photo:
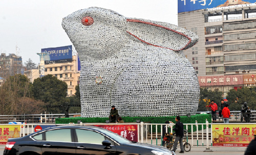
M 184 130 L 183 130 L 183 123 L 180 122 L 180 117 L 177 116 L 175 118 L 176 124 L 175 128 L 173 130 L 175 131 L 175 142 L 174 142 L 174 147 L 173 151 L 175 152 L 177 149 L 178 142 L 180 142 L 180 152 L 179 153 L 184 153 L 184 148 L 183 148 L 183 136 L 184 136 Z

